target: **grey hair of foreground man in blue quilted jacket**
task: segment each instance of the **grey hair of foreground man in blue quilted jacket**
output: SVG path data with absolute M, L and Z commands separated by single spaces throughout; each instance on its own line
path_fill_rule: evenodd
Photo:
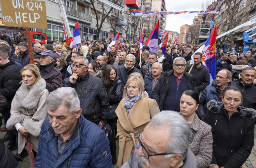
M 68 112 L 74 114 L 80 108 L 76 90 L 71 87 L 62 87 L 50 92 L 46 104 L 51 112 L 56 111 L 60 106 L 66 106 Z

